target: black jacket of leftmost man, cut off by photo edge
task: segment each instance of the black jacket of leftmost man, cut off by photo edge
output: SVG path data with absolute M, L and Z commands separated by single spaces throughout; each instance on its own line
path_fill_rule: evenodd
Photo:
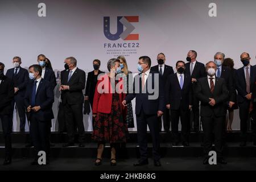
M 11 102 L 14 100 L 14 85 L 10 78 L 3 76 L 0 84 L 0 115 L 11 114 Z

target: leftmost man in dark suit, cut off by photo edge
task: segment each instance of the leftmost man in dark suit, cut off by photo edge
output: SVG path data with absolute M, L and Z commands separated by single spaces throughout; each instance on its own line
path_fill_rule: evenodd
M 3 135 L 5 137 L 5 161 L 3 165 L 11 163 L 11 132 L 13 131 L 13 122 L 10 122 L 14 100 L 14 85 L 10 78 L 3 75 L 5 64 L 0 63 L 0 119 L 2 121 Z

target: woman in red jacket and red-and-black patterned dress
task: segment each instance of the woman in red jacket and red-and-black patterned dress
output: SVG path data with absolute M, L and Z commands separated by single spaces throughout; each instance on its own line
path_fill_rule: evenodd
M 123 93 L 122 77 L 115 80 L 121 72 L 120 61 L 110 59 L 108 61 L 109 73 L 102 75 L 97 82 L 93 98 L 94 127 L 92 139 L 98 142 L 97 159 L 95 165 L 99 166 L 102 160 L 102 153 L 106 142 L 110 143 L 111 159 L 110 165 L 117 164 L 115 149 L 117 144 L 126 143 L 128 129 L 123 118 L 126 109 L 122 105 L 126 94 Z

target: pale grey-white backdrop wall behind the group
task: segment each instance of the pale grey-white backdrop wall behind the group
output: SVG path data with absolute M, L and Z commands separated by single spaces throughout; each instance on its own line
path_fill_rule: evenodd
M 46 5 L 46 17 L 38 16 L 41 2 Z M 208 14 L 212 2 L 217 5 L 217 17 Z M 138 40 L 106 38 L 104 16 L 110 17 L 111 34 L 117 32 L 117 16 L 136 16 L 138 20 L 131 23 L 135 28 L 131 34 L 138 34 Z M 177 60 L 185 60 L 187 52 L 195 49 L 198 61 L 213 60 L 214 53 L 221 51 L 234 59 L 235 68 L 240 68 L 243 51 L 250 53 L 251 64 L 255 64 L 255 16 L 254 0 L 0 0 L 0 61 L 7 70 L 13 67 L 12 58 L 20 56 L 22 67 L 28 67 L 36 64 L 37 56 L 43 53 L 51 60 L 57 76 L 68 56 L 75 56 L 78 67 L 88 73 L 93 69 L 93 59 L 100 59 L 101 69 L 106 71 L 110 58 L 125 55 L 130 71 L 136 72 L 139 56 L 150 56 L 155 65 L 156 55 L 164 52 L 166 64 L 175 67 Z M 122 48 L 113 47 L 118 43 Z M 126 47 L 128 43 L 135 47 Z M 52 131 L 58 128 L 59 96 L 56 86 Z M 92 130 L 91 117 L 91 114 L 84 115 L 86 131 Z M 17 122 L 15 115 L 14 131 L 19 129 Z M 233 129 L 239 128 L 236 110 Z

